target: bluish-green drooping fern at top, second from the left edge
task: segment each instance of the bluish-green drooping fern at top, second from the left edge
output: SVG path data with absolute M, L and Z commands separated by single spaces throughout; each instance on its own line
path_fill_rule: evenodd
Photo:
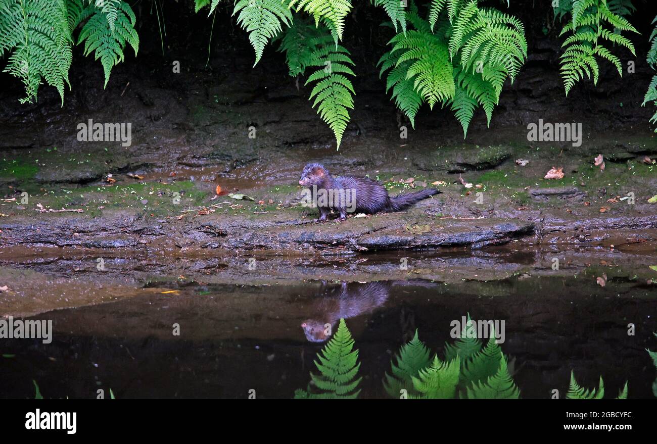
M 106 87 L 112 67 L 124 60 L 126 43 L 135 51 L 135 56 L 139 51 L 139 35 L 135 30 L 137 18 L 130 5 L 122 1 L 117 9 L 114 32 L 112 32 L 101 9 L 95 6 L 88 8 L 93 9 L 93 15 L 80 31 L 78 44 L 84 42 L 85 56 L 93 52 L 95 59 L 101 60 L 105 74 L 103 87 Z

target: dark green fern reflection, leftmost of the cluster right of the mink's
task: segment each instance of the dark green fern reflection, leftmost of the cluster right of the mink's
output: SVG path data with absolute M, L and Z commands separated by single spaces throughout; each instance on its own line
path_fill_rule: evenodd
M 395 360 L 397 364 L 395 364 Z M 430 365 L 430 363 L 431 352 L 424 345 L 424 342 L 420 341 L 417 330 L 415 330 L 413 339 L 408 344 L 402 345 L 399 354 L 390 360 L 392 376 L 386 372 L 383 381 L 383 386 L 388 395 L 398 398 L 402 389 L 418 394 L 414 392 L 412 378 L 419 376 L 420 370 Z

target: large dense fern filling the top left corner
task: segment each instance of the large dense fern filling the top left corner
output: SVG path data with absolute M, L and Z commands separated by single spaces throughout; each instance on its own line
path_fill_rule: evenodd
M 0 55 L 11 53 L 4 72 L 21 79 L 26 97 L 37 99 L 41 81 L 55 87 L 64 105 L 72 61 L 71 32 L 64 0 L 0 2 Z

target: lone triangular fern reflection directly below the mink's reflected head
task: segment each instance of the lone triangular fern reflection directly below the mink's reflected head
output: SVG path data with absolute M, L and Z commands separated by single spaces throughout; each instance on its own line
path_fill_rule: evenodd
M 295 399 L 355 399 L 360 393 L 358 384 L 362 378 L 356 378 L 360 364 L 358 350 L 353 350 L 353 338 L 344 319 L 340 319 L 338 330 L 328 344 L 317 353 L 315 365 L 320 374 L 311 373 L 315 387 L 320 391 L 312 392 L 298 389 Z

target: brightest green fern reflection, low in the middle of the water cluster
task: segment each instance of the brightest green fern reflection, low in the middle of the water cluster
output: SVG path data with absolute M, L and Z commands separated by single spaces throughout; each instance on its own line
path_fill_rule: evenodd
M 411 376 L 413 388 L 419 395 L 409 395 L 411 399 L 452 399 L 459 384 L 461 359 L 456 357 L 443 363 L 434 357 L 428 368 L 420 370 L 418 376 Z

